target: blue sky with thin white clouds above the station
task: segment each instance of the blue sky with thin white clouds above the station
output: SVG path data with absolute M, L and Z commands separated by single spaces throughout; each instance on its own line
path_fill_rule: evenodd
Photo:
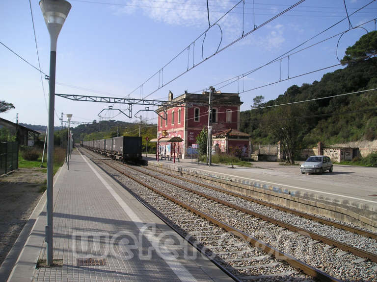
M 375 0 L 305 0 L 275 17 L 298 1 L 208 0 L 207 11 L 205 0 L 69 0 L 55 93 L 167 100 L 169 91 L 177 97 L 215 86 L 240 93 L 241 111 L 249 110 L 257 95 L 275 99 L 342 68 L 346 48 L 376 30 Z M 19 114 L 19 122 L 47 125 L 48 80 L 37 69 L 49 74 L 50 38 L 38 2 L 0 1 L 0 100 L 15 106 L 0 118 L 15 122 Z M 145 106 L 133 106 L 132 118 L 117 110 L 99 117 L 110 105 L 55 96 L 54 124 L 61 113 L 72 121 L 141 115 L 157 122 Z M 127 105 L 112 106 L 129 113 Z

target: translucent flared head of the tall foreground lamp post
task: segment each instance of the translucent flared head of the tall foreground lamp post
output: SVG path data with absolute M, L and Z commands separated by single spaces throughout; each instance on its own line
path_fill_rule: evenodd
M 71 4 L 65 0 L 40 0 L 39 6 L 50 33 L 51 51 L 56 51 L 57 37 L 71 10 Z

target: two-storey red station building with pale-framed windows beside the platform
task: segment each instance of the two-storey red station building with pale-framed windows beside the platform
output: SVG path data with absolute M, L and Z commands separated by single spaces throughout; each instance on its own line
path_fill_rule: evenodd
M 173 93 L 169 92 L 168 99 L 175 102 L 177 106 L 170 108 L 161 106 L 156 110 L 159 113 L 158 137 L 161 138 L 163 132 L 165 134 L 167 132 L 166 137 L 182 138 L 183 141 L 176 143 L 175 152 L 178 158 L 188 158 L 188 147 L 196 143 L 196 136 L 208 126 L 209 92 L 191 94 L 185 91 L 185 94 L 176 98 L 173 97 Z M 222 146 L 218 144 L 217 149 L 228 152 L 228 147 L 237 145 L 243 147 L 244 151 L 246 150 L 246 156 L 249 155 L 250 136 L 239 132 L 240 106 L 243 103 L 239 94 L 215 91 L 211 100 L 213 141 L 218 144 L 218 138 L 223 140 Z M 219 135 L 216 136 L 217 134 Z M 160 143 L 160 146 L 169 146 L 165 152 L 170 151 L 168 143 Z

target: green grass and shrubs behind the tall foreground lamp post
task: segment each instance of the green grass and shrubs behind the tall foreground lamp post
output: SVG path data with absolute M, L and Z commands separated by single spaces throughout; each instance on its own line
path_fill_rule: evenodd
M 22 154 L 18 155 L 18 167 L 19 168 L 32 168 L 32 167 L 41 167 L 42 153 L 43 149 L 36 149 L 39 152 L 39 158 L 37 161 L 27 161 L 22 157 Z M 65 162 L 65 149 L 60 147 L 54 148 L 54 174 Z M 47 172 L 47 153 L 45 151 L 44 162 L 42 169 Z

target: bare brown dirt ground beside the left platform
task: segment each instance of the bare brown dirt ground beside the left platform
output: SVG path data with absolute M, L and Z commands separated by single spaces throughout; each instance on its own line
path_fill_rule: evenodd
M 20 168 L 0 176 L 0 264 L 43 195 L 46 168 Z

